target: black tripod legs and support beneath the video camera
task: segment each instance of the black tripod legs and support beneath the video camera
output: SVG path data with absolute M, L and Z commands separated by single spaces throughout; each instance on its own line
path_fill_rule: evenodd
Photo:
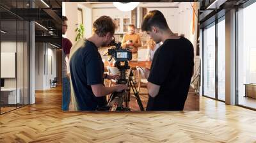
M 131 109 L 129 108 L 129 102 L 130 102 L 131 89 L 132 89 L 134 96 L 136 98 L 136 101 L 138 102 L 138 105 L 140 107 L 140 110 L 143 111 L 144 107 L 141 102 L 139 92 L 137 91 L 137 89 L 135 87 L 134 80 L 132 80 L 132 77 L 133 77 L 132 69 L 129 73 L 128 80 L 125 79 L 125 68 L 118 67 L 118 69 L 120 70 L 121 78 L 119 80 L 117 80 L 117 84 L 127 84 L 129 89 L 126 89 L 122 92 L 112 93 L 111 96 L 109 97 L 106 109 L 111 110 L 111 111 L 115 111 L 115 110 L 130 111 Z M 123 103 L 124 103 L 124 106 L 123 106 Z

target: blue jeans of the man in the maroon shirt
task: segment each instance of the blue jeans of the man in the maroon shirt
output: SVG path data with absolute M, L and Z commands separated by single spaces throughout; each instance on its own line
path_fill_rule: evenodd
M 70 102 L 70 79 L 62 78 L 62 110 L 68 110 Z

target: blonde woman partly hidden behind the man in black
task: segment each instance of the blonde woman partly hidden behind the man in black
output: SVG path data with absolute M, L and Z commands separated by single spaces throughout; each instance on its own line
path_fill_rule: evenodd
M 147 61 L 153 61 L 156 50 L 163 44 L 163 42 L 156 43 L 150 39 L 147 41 Z

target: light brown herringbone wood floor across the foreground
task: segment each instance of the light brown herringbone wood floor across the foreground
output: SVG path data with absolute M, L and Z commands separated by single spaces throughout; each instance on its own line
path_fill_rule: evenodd
M 0 116 L 0 142 L 256 142 L 256 112 L 200 97 L 200 111 L 62 112 L 61 89 Z

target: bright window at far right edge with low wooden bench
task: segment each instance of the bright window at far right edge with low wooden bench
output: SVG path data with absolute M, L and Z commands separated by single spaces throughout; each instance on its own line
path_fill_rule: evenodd
M 237 11 L 237 103 L 256 109 L 256 3 Z

